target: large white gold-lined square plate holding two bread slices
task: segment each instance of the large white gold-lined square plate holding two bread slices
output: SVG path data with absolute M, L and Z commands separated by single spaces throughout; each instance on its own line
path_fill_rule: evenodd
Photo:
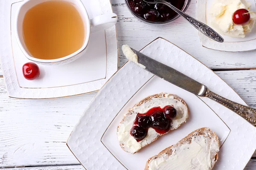
M 171 42 L 157 38 L 141 52 L 204 83 L 213 92 L 246 105 L 212 70 Z M 188 121 L 134 155 L 119 146 L 116 128 L 128 108 L 160 92 L 177 94 L 190 109 Z M 148 158 L 175 144 L 193 130 L 210 127 L 220 139 L 216 170 L 243 170 L 256 149 L 256 128 L 208 98 L 199 98 L 127 62 L 108 80 L 84 111 L 67 146 L 87 170 L 142 170 Z

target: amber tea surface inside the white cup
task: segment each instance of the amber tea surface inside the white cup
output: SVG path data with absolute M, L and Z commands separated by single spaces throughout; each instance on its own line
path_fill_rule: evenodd
M 23 37 L 32 57 L 58 59 L 79 50 L 84 42 L 84 23 L 72 3 L 52 0 L 27 11 Z

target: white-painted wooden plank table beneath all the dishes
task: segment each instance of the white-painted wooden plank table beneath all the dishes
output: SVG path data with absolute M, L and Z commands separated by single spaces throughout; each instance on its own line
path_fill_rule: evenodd
M 195 3 L 192 0 L 187 10 L 192 17 Z M 130 14 L 124 0 L 112 0 L 112 4 L 119 16 L 116 24 L 119 47 L 129 44 L 140 50 L 157 37 L 166 38 L 212 68 L 248 105 L 256 107 L 256 51 L 209 50 L 201 46 L 198 32 L 182 18 L 166 26 L 149 26 Z M 119 48 L 119 67 L 124 62 Z M 95 94 L 61 99 L 12 99 L 7 95 L 0 68 L 0 168 L 83 170 L 65 143 Z M 245 170 L 256 170 L 256 154 Z

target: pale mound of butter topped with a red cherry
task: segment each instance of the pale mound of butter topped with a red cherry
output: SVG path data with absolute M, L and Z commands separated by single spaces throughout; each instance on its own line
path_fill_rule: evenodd
M 251 4 L 246 0 L 215 0 L 211 9 L 211 25 L 220 34 L 229 37 L 244 38 L 245 34 L 251 32 L 256 24 L 256 14 L 250 14 L 250 21 L 244 25 L 233 23 L 233 13 L 241 8 L 249 11 Z

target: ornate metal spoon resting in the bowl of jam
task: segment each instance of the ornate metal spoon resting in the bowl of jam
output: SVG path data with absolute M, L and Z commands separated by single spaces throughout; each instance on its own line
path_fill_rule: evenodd
M 218 42 L 224 42 L 224 39 L 212 28 L 205 25 L 204 23 L 201 23 L 200 21 L 196 20 L 195 18 L 190 17 L 189 15 L 185 14 L 184 12 L 180 11 L 178 8 L 173 6 L 171 3 L 165 1 L 165 0 L 143 0 L 146 3 L 163 3 L 166 6 L 169 6 L 172 8 L 175 12 L 180 14 L 183 18 L 185 18 L 189 23 L 192 24 L 195 28 L 197 28 L 201 33 L 206 35 L 207 37 L 211 38 L 212 40 L 218 41 Z

